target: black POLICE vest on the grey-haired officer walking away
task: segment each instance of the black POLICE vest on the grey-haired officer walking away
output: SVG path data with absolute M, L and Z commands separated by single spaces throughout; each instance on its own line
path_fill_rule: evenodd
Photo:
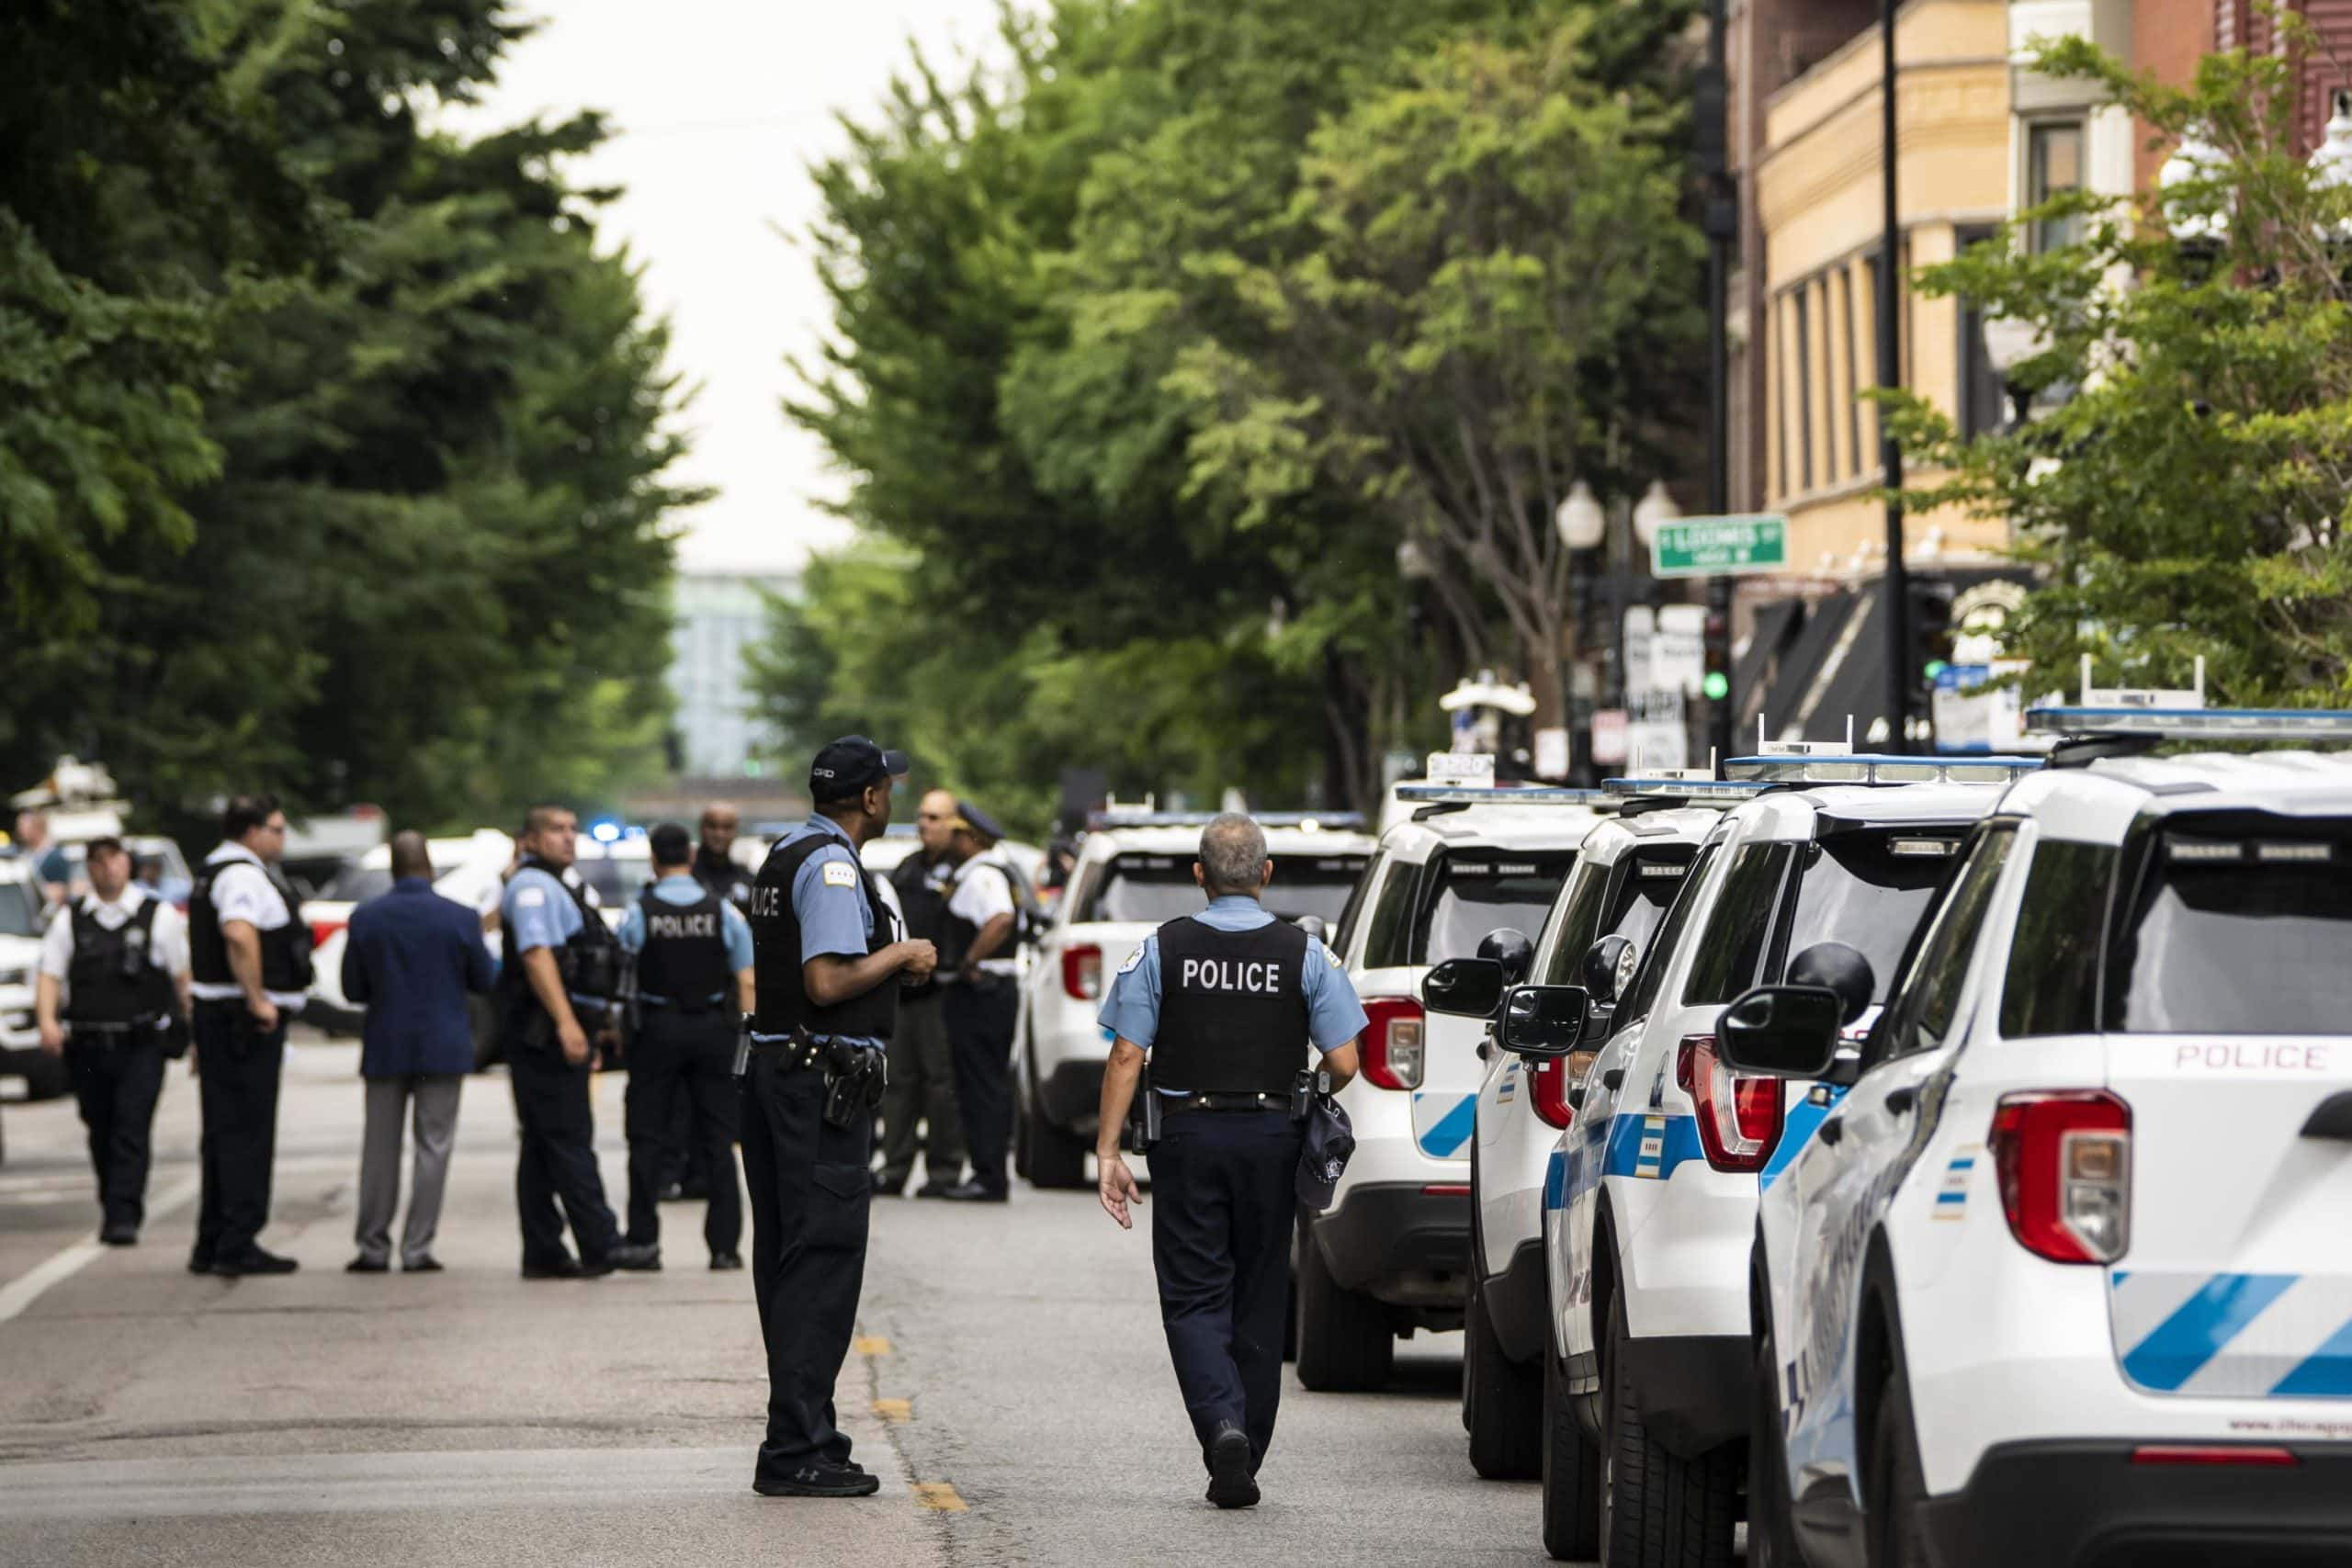
M 1289 1093 L 1308 1065 L 1308 933 L 1289 922 L 1216 931 L 1190 914 L 1160 926 L 1160 1034 L 1152 1086 Z

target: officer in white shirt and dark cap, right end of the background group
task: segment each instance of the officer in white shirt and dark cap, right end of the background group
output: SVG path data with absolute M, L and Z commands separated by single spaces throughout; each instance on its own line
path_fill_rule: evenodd
M 971 1150 L 971 1180 L 938 1197 L 960 1204 L 1002 1204 L 1009 1197 L 1004 1157 L 1014 1140 L 1014 1025 L 1021 987 L 1014 980 L 1014 872 L 997 853 L 1004 830 L 969 799 L 955 802 L 948 856 L 955 886 L 941 926 L 938 964 L 948 971 L 948 1051 L 955 1058 L 955 1110 Z

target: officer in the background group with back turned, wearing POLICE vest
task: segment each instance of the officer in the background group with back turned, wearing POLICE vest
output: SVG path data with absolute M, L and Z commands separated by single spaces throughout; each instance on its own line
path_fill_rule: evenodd
M 637 1032 L 628 1044 L 628 1239 L 661 1265 L 661 1187 L 673 1150 L 673 1105 L 684 1100 L 691 1138 L 710 1171 L 703 1241 L 713 1269 L 741 1269 L 743 1194 L 734 1178 L 736 1020 L 753 1006 L 750 922 L 691 875 L 687 830 L 644 835 L 647 886 L 621 919 L 621 947 L 637 954 Z

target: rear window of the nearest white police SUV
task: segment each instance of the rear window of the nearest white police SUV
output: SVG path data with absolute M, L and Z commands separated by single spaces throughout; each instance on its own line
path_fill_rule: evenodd
M 2110 973 L 2110 1030 L 2345 1034 L 2352 835 L 2169 832 Z

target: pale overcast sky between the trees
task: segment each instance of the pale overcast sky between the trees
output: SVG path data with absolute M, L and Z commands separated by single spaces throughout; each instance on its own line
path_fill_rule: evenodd
M 946 63 L 995 52 L 995 0 L 524 0 L 541 31 L 508 54 L 468 127 L 602 108 L 619 134 L 572 167 L 623 186 L 604 244 L 644 266 L 670 317 L 670 367 L 699 395 L 675 477 L 715 484 L 691 515 L 687 567 L 793 569 L 840 538 L 818 501 L 842 494 L 826 449 L 788 425 L 786 355 L 814 357 L 828 322 L 807 249 L 807 165 L 840 146 L 833 110 L 863 115 L 908 42 Z

